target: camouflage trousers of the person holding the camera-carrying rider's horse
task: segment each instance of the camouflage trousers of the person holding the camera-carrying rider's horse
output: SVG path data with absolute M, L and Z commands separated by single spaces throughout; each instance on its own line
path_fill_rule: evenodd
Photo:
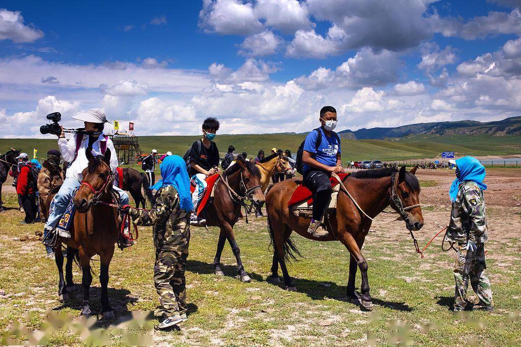
M 154 285 L 163 306 L 165 316 L 187 312 L 187 290 L 184 272 L 188 258 L 190 229 L 186 230 L 183 245 L 171 245 L 160 232 L 154 233 L 156 263 L 154 266 Z

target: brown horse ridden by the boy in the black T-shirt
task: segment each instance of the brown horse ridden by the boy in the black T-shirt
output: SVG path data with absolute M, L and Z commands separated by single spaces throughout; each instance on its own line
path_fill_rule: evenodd
M 241 207 L 245 199 L 252 199 L 255 205 L 264 204 L 264 195 L 261 190 L 261 173 L 255 164 L 245 161 L 238 156 L 237 162 L 230 166 L 215 184 L 214 200 L 204 210 L 206 225 L 220 228 L 217 252 L 214 259 L 216 275 L 224 275 L 220 259 L 226 240 L 230 243 L 237 270 L 243 282 L 250 282 L 250 276 L 244 271 L 240 249 L 235 241 L 233 226 L 241 216 Z

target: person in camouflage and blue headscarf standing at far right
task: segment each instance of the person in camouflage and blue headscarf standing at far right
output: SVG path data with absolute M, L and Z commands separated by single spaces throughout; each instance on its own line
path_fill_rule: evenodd
M 485 168 L 473 157 L 456 160 L 456 179 L 452 183 L 450 196 L 452 212 L 446 238 L 457 244 L 454 279 L 456 290 L 454 311 L 463 311 L 467 305 L 468 282 L 479 298 L 473 310 L 493 310 L 492 290 L 485 269 L 485 242 L 487 215 L 483 190 Z

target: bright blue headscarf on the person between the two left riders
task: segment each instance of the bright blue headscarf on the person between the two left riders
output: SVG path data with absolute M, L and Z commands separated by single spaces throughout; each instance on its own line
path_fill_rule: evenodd
M 184 211 L 192 211 L 192 195 L 190 194 L 190 177 L 187 172 L 187 164 L 179 156 L 168 156 L 159 166 L 161 176 L 150 189 L 159 190 L 164 186 L 173 186 L 179 193 L 179 204 Z

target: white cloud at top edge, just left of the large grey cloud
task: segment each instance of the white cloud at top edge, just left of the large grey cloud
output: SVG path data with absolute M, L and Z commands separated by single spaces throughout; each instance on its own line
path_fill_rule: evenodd
M 315 27 L 309 21 L 309 14 L 304 3 L 297 0 L 257 0 L 254 13 L 265 25 L 282 31 L 294 33 Z

